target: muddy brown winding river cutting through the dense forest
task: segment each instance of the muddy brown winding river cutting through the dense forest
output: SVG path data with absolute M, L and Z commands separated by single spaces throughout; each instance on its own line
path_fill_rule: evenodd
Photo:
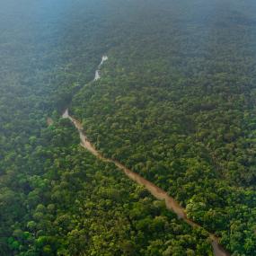
M 100 68 L 102 64 L 108 59 L 107 56 L 102 57 L 102 62 L 98 66 L 98 69 L 95 72 L 95 77 L 93 81 L 99 80 L 101 78 L 100 75 Z M 68 109 L 65 110 L 65 112 L 62 115 L 65 119 L 70 119 L 72 123 L 74 124 L 75 128 L 79 132 L 81 146 L 83 146 L 85 149 L 90 151 L 92 154 L 94 154 L 97 158 L 101 159 L 103 162 L 106 163 L 114 163 L 122 172 L 124 172 L 128 178 L 132 181 L 137 182 L 139 185 L 143 185 L 146 190 L 148 190 L 155 199 L 164 200 L 165 205 L 168 209 L 172 210 L 179 218 L 181 218 L 183 221 L 185 221 L 187 224 L 191 225 L 192 227 L 200 227 L 200 225 L 196 224 L 192 220 L 190 220 L 186 215 L 185 208 L 181 207 L 175 199 L 170 197 L 167 192 L 160 189 L 159 187 L 155 186 L 154 183 L 147 181 L 143 177 L 141 177 L 136 172 L 130 171 L 126 166 L 124 166 L 122 163 L 119 163 L 116 160 L 106 158 L 101 153 L 99 153 L 96 148 L 93 146 L 93 144 L 88 140 L 84 133 L 84 128 L 82 124 L 76 120 L 74 117 L 70 116 L 68 113 Z M 230 254 L 225 251 L 225 249 L 218 243 L 218 238 L 215 234 L 209 233 L 209 238 L 211 240 L 213 251 L 215 256 L 229 256 Z

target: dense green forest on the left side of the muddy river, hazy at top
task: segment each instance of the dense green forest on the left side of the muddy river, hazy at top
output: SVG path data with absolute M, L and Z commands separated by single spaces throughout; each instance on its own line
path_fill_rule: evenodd
M 212 255 L 205 231 L 86 153 L 59 119 L 125 41 L 125 5 L 18 2 L 0 1 L 0 255 Z

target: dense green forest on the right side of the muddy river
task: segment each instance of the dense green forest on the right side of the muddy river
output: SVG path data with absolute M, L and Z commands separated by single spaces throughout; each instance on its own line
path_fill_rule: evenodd
M 126 40 L 72 111 L 103 154 L 169 191 L 234 255 L 256 255 L 256 4 L 177 2 L 120 8 Z

